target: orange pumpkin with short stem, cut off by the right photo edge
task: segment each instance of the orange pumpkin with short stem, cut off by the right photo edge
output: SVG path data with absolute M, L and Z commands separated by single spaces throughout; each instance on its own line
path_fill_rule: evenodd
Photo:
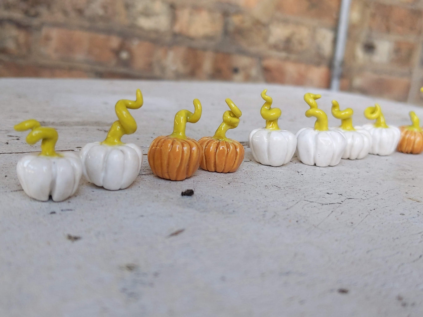
M 411 111 L 409 113 L 412 125 L 401 126 L 401 139 L 397 150 L 402 153 L 420 154 L 423 151 L 423 130 L 419 126 L 419 118 Z

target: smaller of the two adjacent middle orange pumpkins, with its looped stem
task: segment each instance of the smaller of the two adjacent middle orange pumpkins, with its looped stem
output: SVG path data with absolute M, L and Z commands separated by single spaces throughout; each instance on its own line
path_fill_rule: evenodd
M 238 126 L 242 112 L 231 99 L 227 98 L 225 101 L 231 110 L 223 114 L 223 122 L 214 136 L 198 140 L 202 147 L 200 167 L 210 172 L 235 172 L 244 159 L 244 147 L 241 143 L 226 137 L 226 131 Z

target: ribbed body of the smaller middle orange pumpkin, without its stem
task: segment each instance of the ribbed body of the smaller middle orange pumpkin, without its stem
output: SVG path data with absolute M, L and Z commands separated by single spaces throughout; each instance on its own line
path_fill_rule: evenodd
M 235 172 L 244 159 L 244 147 L 236 140 L 219 141 L 212 137 L 198 140 L 203 148 L 200 167 L 210 172 Z

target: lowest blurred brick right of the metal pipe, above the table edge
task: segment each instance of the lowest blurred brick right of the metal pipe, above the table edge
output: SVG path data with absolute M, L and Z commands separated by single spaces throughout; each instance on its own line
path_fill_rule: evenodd
M 406 101 L 410 90 L 410 79 L 363 72 L 353 78 L 352 88 L 365 95 Z

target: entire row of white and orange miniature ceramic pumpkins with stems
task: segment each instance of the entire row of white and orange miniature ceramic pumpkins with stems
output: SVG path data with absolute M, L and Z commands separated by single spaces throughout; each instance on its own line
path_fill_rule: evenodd
M 297 148 L 299 159 L 309 165 L 333 166 L 342 158 L 363 158 L 368 153 L 389 155 L 395 150 L 400 139 L 400 130 L 385 124 L 380 107 L 369 107 L 365 111 L 368 119 L 376 120 L 375 125 L 352 126 L 352 109 L 339 110 L 332 101 L 332 114 L 341 119 L 338 128 L 327 127 L 327 115 L 318 109 L 316 99 L 320 95 L 307 93 L 305 101 L 310 106 L 307 117 L 316 117 L 314 128 L 302 128 L 297 135 L 281 130 L 277 121 L 281 115 L 278 108 L 271 108 L 272 98 L 261 93 L 265 103 L 261 116 L 266 120 L 265 128 L 250 133 L 250 148 L 256 161 L 265 165 L 280 166 L 291 160 Z M 203 137 L 198 142 L 185 135 L 187 122 L 195 123 L 201 117 L 201 103 L 194 100 L 194 112 L 180 110 L 175 115 L 173 133 L 154 139 L 148 150 L 148 163 L 155 175 L 183 180 L 195 173 L 198 167 L 211 172 L 234 172 L 244 158 L 244 148 L 236 140 L 228 139 L 226 131 L 236 128 L 242 112 L 226 99 L 230 110 L 223 114 L 223 122 L 213 137 Z M 25 193 L 30 197 L 46 201 L 64 200 L 77 190 L 81 174 L 88 181 L 105 189 L 117 190 L 130 186 L 140 171 L 143 154 L 135 144 L 125 144 L 121 137 L 132 134 L 137 123 L 128 109 L 143 105 L 141 91 L 137 90 L 135 101 L 119 100 L 115 106 L 118 116 L 103 142 L 85 145 L 80 156 L 73 153 L 58 153 L 58 140 L 54 128 L 42 127 L 36 120 L 26 120 L 15 126 L 18 131 L 30 129 L 26 140 L 33 145 L 41 140 L 41 153 L 24 156 L 18 162 L 17 174 Z M 413 125 L 401 127 L 401 141 L 398 150 L 405 153 L 420 153 L 423 150 L 423 133 L 418 118 L 410 114 Z

